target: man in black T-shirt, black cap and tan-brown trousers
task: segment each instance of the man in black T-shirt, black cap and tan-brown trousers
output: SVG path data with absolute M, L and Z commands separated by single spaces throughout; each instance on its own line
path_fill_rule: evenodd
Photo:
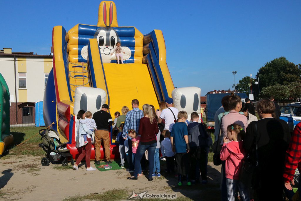
M 93 119 L 95 120 L 97 130 L 95 131 L 95 161 L 96 164 L 99 165 L 100 162 L 100 147 L 101 142 L 104 143 L 104 155 L 106 156 L 106 165 L 105 169 L 110 169 L 112 166 L 109 165 L 111 163 L 111 151 L 110 151 L 110 126 L 112 126 L 112 116 L 107 112 L 109 109 L 109 105 L 104 104 L 101 107 L 100 111 L 97 111 L 93 115 Z

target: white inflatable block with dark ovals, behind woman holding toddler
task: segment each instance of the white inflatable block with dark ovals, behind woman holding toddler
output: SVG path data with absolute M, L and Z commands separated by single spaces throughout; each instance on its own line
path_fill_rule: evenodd
M 79 110 L 92 112 L 92 115 L 101 110 L 101 106 L 106 103 L 107 93 L 99 88 L 79 86 L 74 94 L 73 114 L 77 115 Z

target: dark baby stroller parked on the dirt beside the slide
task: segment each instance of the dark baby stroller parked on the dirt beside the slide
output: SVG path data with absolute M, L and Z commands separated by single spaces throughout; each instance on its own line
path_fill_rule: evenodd
M 71 165 L 74 165 L 74 159 L 67 149 L 66 143 L 61 143 L 58 133 L 52 129 L 39 130 L 43 143 L 39 144 L 46 152 L 46 157 L 42 158 L 42 166 L 48 166 L 51 163 L 62 163 L 62 166 L 68 165 L 68 157 L 71 157 Z

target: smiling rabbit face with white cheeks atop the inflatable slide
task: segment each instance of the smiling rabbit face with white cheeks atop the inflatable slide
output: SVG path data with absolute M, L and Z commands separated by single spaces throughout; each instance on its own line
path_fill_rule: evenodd
M 116 43 L 120 42 L 116 30 L 112 27 L 99 27 L 94 34 L 94 38 L 98 41 L 102 62 L 110 63 L 112 60 L 116 60 L 116 54 L 115 52 L 113 53 L 113 49 L 116 47 Z M 122 51 L 124 52 L 122 52 L 124 60 L 131 57 L 132 52 L 128 47 L 122 46 Z M 110 55 L 111 53 L 113 53 L 113 55 Z M 81 55 L 87 60 L 88 46 L 82 48 Z

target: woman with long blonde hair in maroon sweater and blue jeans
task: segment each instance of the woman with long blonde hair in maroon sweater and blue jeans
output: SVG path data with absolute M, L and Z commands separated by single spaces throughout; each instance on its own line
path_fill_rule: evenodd
M 142 106 L 144 117 L 140 119 L 139 131 L 138 133 L 141 135 L 140 142 L 138 144 L 138 148 L 136 151 L 136 159 L 135 159 L 135 172 L 132 177 L 128 177 L 128 179 L 137 180 L 138 179 L 138 170 L 140 167 L 140 161 L 147 150 L 148 154 L 148 181 L 153 181 L 152 170 L 154 169 L 154 155 L 155 149 L 157 146 L 157 136 L 159 133 L 158 122 L 155 118 L 152 111 L 152 108 L 148 104 L 144 104 Z

